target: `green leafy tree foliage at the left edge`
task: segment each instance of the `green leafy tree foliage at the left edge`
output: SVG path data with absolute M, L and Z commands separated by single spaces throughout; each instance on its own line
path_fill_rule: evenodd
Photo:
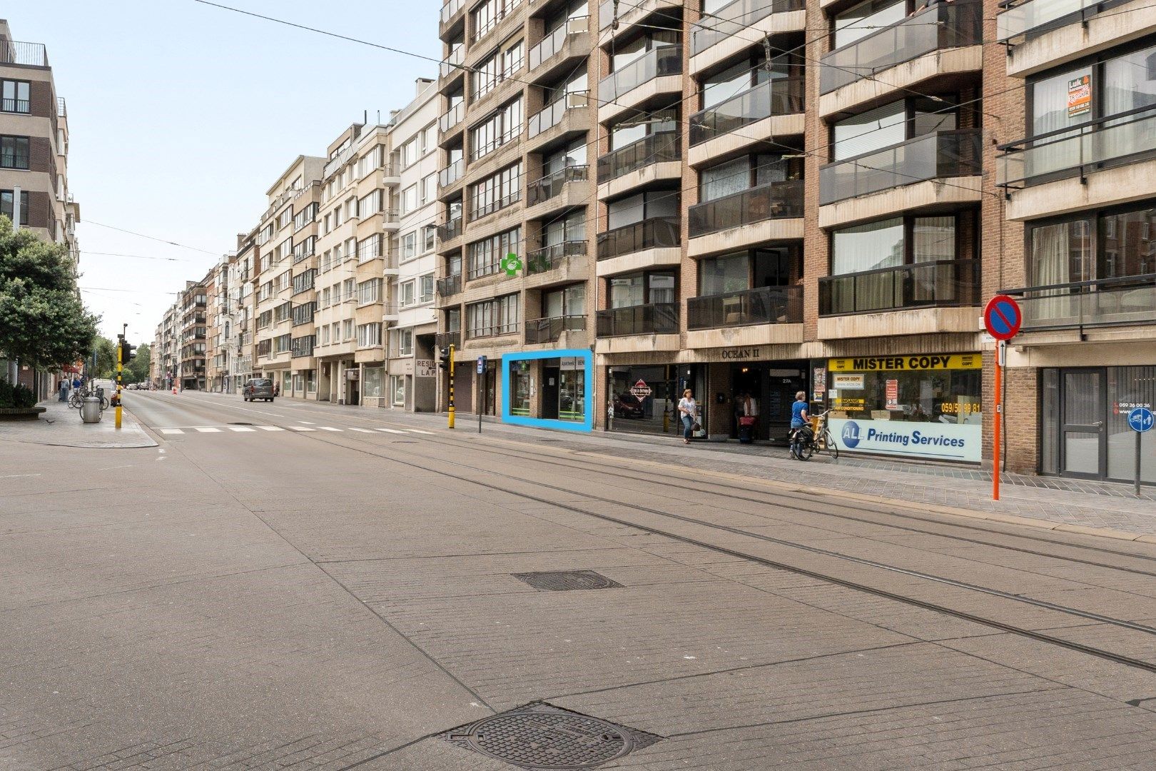
M 68 250 L 0 217 L 0 351 L 37 368 L 84 358 L 99 319 L 81 303 Z

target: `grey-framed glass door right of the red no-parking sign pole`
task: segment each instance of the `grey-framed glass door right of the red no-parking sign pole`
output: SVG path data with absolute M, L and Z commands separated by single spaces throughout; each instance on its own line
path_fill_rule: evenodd
M 1103 479 L 1105 458 L 1104 370 L 1062 370 L 1061 473 Z

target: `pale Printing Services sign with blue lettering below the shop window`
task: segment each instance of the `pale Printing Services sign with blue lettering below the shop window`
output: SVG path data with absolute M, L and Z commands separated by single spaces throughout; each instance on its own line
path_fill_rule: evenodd
M 832 418 L 839 450 L 979 462 L 983 425 Z

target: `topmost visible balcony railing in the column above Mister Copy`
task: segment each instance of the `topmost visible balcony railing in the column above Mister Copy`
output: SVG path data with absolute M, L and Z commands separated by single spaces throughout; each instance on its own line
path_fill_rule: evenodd
M 943 49 L 983 40 L 983 3 L 941 2 L 872 32 L 822 58 L 820 94 L 830 94 L 861 77 Z

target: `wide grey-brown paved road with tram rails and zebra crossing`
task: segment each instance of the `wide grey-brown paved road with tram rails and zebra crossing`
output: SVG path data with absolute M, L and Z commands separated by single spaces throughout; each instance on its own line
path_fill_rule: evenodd
M 1151 546 L 129 396 L 0 436 L 5 771 L 510 769 L 439 734 L 535 700 L 660 737 L 601 768 L 1154 768 Z

